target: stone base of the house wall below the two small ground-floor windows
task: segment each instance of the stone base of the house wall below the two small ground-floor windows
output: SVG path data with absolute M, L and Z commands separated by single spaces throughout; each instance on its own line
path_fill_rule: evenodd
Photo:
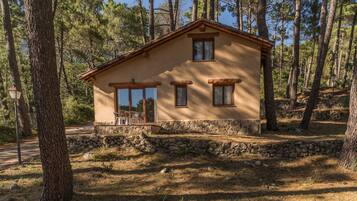
M 260 120 L 160 121 L 160 133 L 260 134 Z

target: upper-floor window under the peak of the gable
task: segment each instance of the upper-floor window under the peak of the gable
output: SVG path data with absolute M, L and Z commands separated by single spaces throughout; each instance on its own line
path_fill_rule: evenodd
M 214 59 L 214 39 L 193 39 L 193 61 L 211 61 Z

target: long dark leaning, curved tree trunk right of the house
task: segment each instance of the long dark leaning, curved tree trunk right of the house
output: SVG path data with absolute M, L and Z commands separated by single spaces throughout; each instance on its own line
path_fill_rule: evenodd
M 328 45 L 330 43 L 331 32 L 333 28 L 333 22 L 335 17 L 335 10 L 336 10 L 336 1 L 337 0 L 330 1 L 329 16 L 326 24 L 327 2 L 326 0 L 322 0 L 322 7 L 321 7 L 321 14 L 320 14 L 321 27 L 320 27 L 317 66 L 316 66 L 315 77 L 312 83 L 312 89 L 309 96 L 309 100 L 307 101 L 306 109 L 304 111 L 304 116 L 300 124 L 301 128 L 303 129 L 307 129 L 309 127 L 312 112 L 317 104 L 322 72 L 323 72 Z

